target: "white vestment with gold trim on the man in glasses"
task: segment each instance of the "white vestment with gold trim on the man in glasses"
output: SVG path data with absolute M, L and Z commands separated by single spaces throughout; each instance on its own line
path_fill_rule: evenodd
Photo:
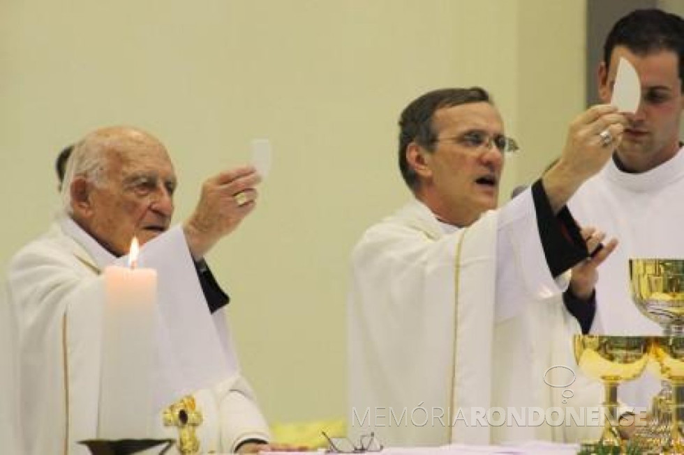
M 563 406 L 544 383 L 550 367 L 576 370 L 560 281 L 529 190 L 452 233 L 419 201 L 372 226 L 352 254 L 350 433 L 389 446 L 577 438 L 565 424 L 473 425 L 478 409 Z M 595 403 L 580 382 L 567 388 Z

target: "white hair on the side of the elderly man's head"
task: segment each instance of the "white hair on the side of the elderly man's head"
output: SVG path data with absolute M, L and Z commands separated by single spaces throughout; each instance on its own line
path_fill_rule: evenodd
M 73 215 L 71 206 L 71 184 L 77 177 L 84 177 L 89 183 L 102 187 L 105 183 L 105 167 L 107 166 L 107 140 L 94 137 L 93 134 L 78 142 L 66 162 L 64 182 L 61 185 L 62 209 L 67 215 Z

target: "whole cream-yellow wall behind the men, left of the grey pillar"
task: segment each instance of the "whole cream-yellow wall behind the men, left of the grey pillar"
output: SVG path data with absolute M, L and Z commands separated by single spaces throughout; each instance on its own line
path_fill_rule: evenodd
M 0 0 L 6 263 L 50 222 L 54 157 L 101 125 L 147 128 L 181 181 L 274 146 L 258 210 L 209 257 L 272 422 L 342 417 L 348 254 L 409 194 L 396 118 L 431 88 L 489 88 L 529 183 L 583 109 L 578 0 Z M 408 366 L 410 367 L 410 366 Z M 426 372 L 427 374 L 428 372 Z

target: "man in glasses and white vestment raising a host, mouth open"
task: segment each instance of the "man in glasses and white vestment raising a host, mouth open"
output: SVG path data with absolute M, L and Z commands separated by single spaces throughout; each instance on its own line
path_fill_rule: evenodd
M 553 297 L 567 286 L 564 272 L 605 237 L 583 233 L 565 203 L 609 160 L 624 124 L 609 105 L 577 116 L 558 162 L 497 210 L 514 141 L 489 94 L 446 88 L 403 110 L 399 168 L 412 200 L 352 252 L 352 433 L 373 431 L 392 446 L 577 440 L 572 431 L 581 430 L 567 426 L 473 418 L 496 407 L 563 406 L 544 372 L 574 364 L 579 325 Z M 414 422 L 412 409 L 429 423 L 420 413 Z

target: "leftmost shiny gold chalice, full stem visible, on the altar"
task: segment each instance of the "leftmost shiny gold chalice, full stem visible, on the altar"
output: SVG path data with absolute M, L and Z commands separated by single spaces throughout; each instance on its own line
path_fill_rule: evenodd
M 620 447 L 617 431 L 618 385 L 638 378 L 649 359 L 650 337 L 575 335 L 574 356 L 579 368 L 604 384 L 606 419 L 601 439 L 604 447 Z

